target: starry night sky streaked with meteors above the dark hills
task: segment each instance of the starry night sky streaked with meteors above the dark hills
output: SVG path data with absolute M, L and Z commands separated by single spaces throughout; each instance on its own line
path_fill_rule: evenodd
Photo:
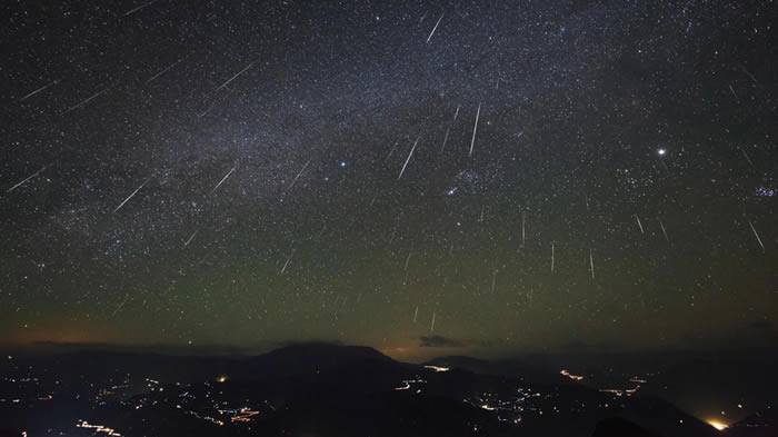
M 8 1 L 0 339 L 778 335 L 774 1 Z

